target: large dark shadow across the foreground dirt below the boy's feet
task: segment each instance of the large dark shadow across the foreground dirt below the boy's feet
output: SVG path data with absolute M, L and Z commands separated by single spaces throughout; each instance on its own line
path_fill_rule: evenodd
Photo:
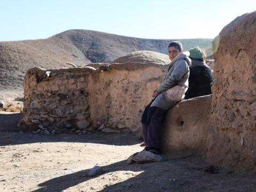
M 170 157 L 169 157 L 170 158 Z M 103 174 L 116 171 L 133 171 L 142 173 L 118 182 L 114 185 L 103 186 L 103 189 L 97 190 L 97 181 L 90 185 L 93 191 L 255 191 L 256 179 L 252 174 L 235 174 L 234 172 L 221 170 L 217 174 L 210 174 L 204 171 L 206 164 L 198 158 L 170 158 L 166 162 L 149 163 L 149 164 L 126 164 L 126 161 L 116 162 L 108 166 L 104 166 Z M 96 177 L 87 177 L 88 170 L 75 172 L 53 178 L 46 182 L 40 183 L 41 191 L 62 191 L 94 179 Z M 105 176 L 103 177 L 105 179 Z M 106 178 L 107 179 L 107 178 Z M 79 188 L 85 188 L 90 191 L 84 183 Z M 102 188 L 102 186 L 101 186 Z M 88 190 L 89 189 L 89 190 Z

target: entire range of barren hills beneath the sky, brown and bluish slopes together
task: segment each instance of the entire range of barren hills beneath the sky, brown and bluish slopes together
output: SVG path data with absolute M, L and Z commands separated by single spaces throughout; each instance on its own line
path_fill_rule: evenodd
M 212 39 L 143 39 L 92 30 L 68 30 L 46 39 L 0 42 L 0 90 L 17 89 L 31 67 L 57 69 L 72 62 L 111 62 L 134 51 L 167 54 L 171 41 L 179 40 L 185 50 L 195 46 L 211 49 Z

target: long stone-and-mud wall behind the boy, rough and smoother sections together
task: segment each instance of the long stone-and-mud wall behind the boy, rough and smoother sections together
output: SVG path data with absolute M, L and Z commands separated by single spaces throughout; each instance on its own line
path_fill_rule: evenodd
M 164 70 L 156 63 L 27 71 L 19 126 L 45 134 L 63 130 L 141 134 L 142 110 Z

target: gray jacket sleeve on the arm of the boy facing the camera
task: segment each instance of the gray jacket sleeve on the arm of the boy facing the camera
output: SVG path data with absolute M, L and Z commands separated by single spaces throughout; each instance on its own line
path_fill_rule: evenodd
M 188 65 L 185 60 L 181 59 L 175 62 L 172 73 L 168 74 L 164 81 L 157 86 L 156 91 L 158 93 L 162 93 L 163 91 L 166 91 L 171 87 L 177 85 L 177 83 L 180 81 L 181 77 L 186 73 L 187 70 Z

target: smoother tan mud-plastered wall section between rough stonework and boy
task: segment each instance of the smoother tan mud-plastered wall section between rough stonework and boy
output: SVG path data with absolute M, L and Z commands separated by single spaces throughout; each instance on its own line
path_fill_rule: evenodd
M 98 118 L 100 125 L 105 123 L 108 127 L 141 132 L 141 114 L 163 79 L 162 67 L 142 63 L 111 64 L 110 71 L 90 76 L 91 117 Z

